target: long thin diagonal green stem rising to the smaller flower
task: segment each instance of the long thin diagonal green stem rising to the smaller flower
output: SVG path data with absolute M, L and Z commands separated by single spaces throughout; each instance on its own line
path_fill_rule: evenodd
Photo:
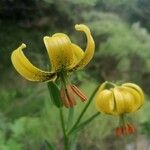
M 86 112 L 87 108 L 89 107 L 89 105 L 92 102 L 93 97 L 95 96 L 96 92 L 98 91 L 99 86 L 96 87 L 96 89 L 94 90 L 94 92 L 92 93 L 89 101 L 87 102 L 87 104 L 85 105 L 84 109 L 82 110 L 81 114 L 79 115 L 77 121 L 75 122 L 75 124 L 73 125 L 73 127 L 70 129 L 70 131 L 68 132 L 68 135 L 73 132 L 73 130 L 77 127 L 77 125 L 80 123 L 81 118 L 83 117 L 84 113 Z

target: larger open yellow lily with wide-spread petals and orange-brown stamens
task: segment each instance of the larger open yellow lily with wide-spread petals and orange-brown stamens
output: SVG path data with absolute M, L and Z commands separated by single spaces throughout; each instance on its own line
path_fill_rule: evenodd
M 57 78 L 60 78 L 63 83 L 61 95 L 63 101 L 67 100 L 67 102 L 64 102 L 66 107 L 72 107 L 75 105 L 75 103 L 72 102 L 72 94 L 69 94 L 73 91 L 81 99 L 86 99 L 77 87 L 71 85 L 70 88 L 66 85 L 68 84 L 66 83 L 68 82 L 66 79 L 67 73 L 84 68 L 92 59 L 95 50 L 95 43 L 90 29 L 84 24 L 75 25 L 75 29 L 84 32 L 87 37 L 85 51 L 83 51 L 78 45 L 72 43 L 69 37 L 64 33 L 56 33 L 51 37 L 44 37 L 44 44 L 52 66 L 51 71 L 43 71 L 35 67 L 27 59 L 23 53 L 23 49 L 26 47 L 25 44 L 22 44 L 14 50 L 11 55 L 13 66 L 27 80 L 47 82 L 55 81 Z

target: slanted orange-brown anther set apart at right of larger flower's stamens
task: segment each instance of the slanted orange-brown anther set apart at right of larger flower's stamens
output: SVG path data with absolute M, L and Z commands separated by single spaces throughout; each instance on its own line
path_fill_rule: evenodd
M 70 87 L 74 91 L 74 93 L 79 96 L 79 98 L 81 99 L 82 102 L 87 100 L 86 95 L 84 95 L 78 87 L 76 87 L 75 85 L 71 85 Z

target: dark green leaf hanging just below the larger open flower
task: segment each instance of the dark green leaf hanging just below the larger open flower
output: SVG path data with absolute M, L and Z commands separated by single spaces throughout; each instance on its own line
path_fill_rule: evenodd
M 49 94 L 50 94 L 53 104 L 56 107 L 62 107 L 63 104 L 61 101 L 60 91 L 59 91 L 58 86 L 54 82 L 48 82 L 47 86 L 48 86 Z

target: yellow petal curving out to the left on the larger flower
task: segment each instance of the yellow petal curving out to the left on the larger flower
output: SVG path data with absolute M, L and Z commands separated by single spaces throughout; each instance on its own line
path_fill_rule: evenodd
M 15 69 L 27 80 L 30 81 L 50 81 L 56 78 L 56 73 L 43 71 L 30 63 L 24 55 L 22 49 L 26 47 L 22 44 L 12 52 L 11 60 Z

